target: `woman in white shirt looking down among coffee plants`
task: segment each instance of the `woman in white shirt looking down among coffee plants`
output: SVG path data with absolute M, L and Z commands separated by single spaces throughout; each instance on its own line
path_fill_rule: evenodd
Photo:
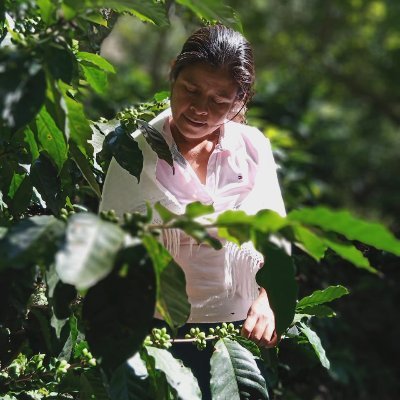
M 216 214 L 272 209 L 284 215 L 270 144 L 260 131 L 243 123 L 254 83 L 247 40 L 222 25 L 201 28 L 184 44 L 170 77 L 171 109 L 151 125 L 168 143 L 174 169 L 158 159 L 137 132 L 144 154 L 140 181 L 113 160 L 101 209 L 122 214 L 143 210 L 146 201 L 161 201 L 171 211 L 182 212 L 186 204 L 200 201 L 213 204 Z M 267 293 L 255 282 L 261 254 L 250 243 L 241 248 L 223 243 L 222 250 L 214 250 L 179 231 L 164 236 L 185 272 L 191 303 L 188 323 L 241 321 L 243 336 L 260 346 L 275 346 L 274 314 Z

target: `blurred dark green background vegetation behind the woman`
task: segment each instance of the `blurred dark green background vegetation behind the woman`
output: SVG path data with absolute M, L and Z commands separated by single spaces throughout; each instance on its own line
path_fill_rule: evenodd
M 168 2 L 167 2 L 168 3 Z M 171 25 L 120 18 L 101 53 L 118 69 L 92 118 L 168 90 L 169 66 L 201 21 L 172 2 Z M 212 4 L 208 1 L 207 3 Z M 379 220 L 400 236 L 400 2 L 231 0 L 256 57 L 248 122 L 270 138 L 288 210 L 323 204 Z M 112 99 L 112 100 L 110 100 Z M 399 260 L 363 248 L 372 276 L 328 255 L 296 255 L 301 295 L 344 284 L 340 318 L 316 321 L 332 368 L 282 346 L 283 399 L 400 395 Z

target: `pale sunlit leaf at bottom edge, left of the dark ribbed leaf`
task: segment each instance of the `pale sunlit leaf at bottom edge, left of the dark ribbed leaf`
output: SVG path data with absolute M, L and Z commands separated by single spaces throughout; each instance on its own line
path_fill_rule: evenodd
M 162 371 L 168 384 L 177 392 L 179 400 L 201 399 L 201 392 L 196 378 L 190 368 L 175 359 L 168 350 L 146 346 L 147 354 L 155 361 L 155 368 Z

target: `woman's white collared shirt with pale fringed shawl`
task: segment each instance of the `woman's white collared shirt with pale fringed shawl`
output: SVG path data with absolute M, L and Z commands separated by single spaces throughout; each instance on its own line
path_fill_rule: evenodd
M 176 145 L 169 119 L 167 112 L 153 125 L 173 148 Z M 141 210 L 146 200 L 160 200 L 158 190 L 168 199 L 164 205 L 179 204 L 181 210 L 188 203 L 200 201 L 212 204 L 217 214 L 236 209 L 255 214 L 271 209 L 285 215 L 271 146 L 256 128 L 232 121 L 222 126 L 219 142 L 208 161 L 205 184 L 189 163 L 182 166 L 175 162 L 173 172 L 167 162 L 154 156 L 151 149 L 149 152 L 142 136 L 136 140 L 145 161 L 140 182 L 114 161 L 107 173 L 100 209 L 114 208 L 120 214 Z M 126 196 L 126 200 L 121 200 Z M 221 250 L 214 250 L 174 231 L 166 232 L 164 244 L 185 272 L 191 304 L 188 322 L 245 319 L 258 295 L 255 274 L 263 262 L 262 255 L 251 244 L 239 248 L 227 241 L 223 241 Z

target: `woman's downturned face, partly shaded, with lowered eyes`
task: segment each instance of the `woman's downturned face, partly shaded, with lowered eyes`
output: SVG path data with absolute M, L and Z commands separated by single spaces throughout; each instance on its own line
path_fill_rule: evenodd
M 172 84 L 171 130 L 186 140 L 216 131 L 237 106 L 238 85 L 224 69 L 193 64 L 182 69 Z M 236 108 L 236 107 L 235 107 Z

